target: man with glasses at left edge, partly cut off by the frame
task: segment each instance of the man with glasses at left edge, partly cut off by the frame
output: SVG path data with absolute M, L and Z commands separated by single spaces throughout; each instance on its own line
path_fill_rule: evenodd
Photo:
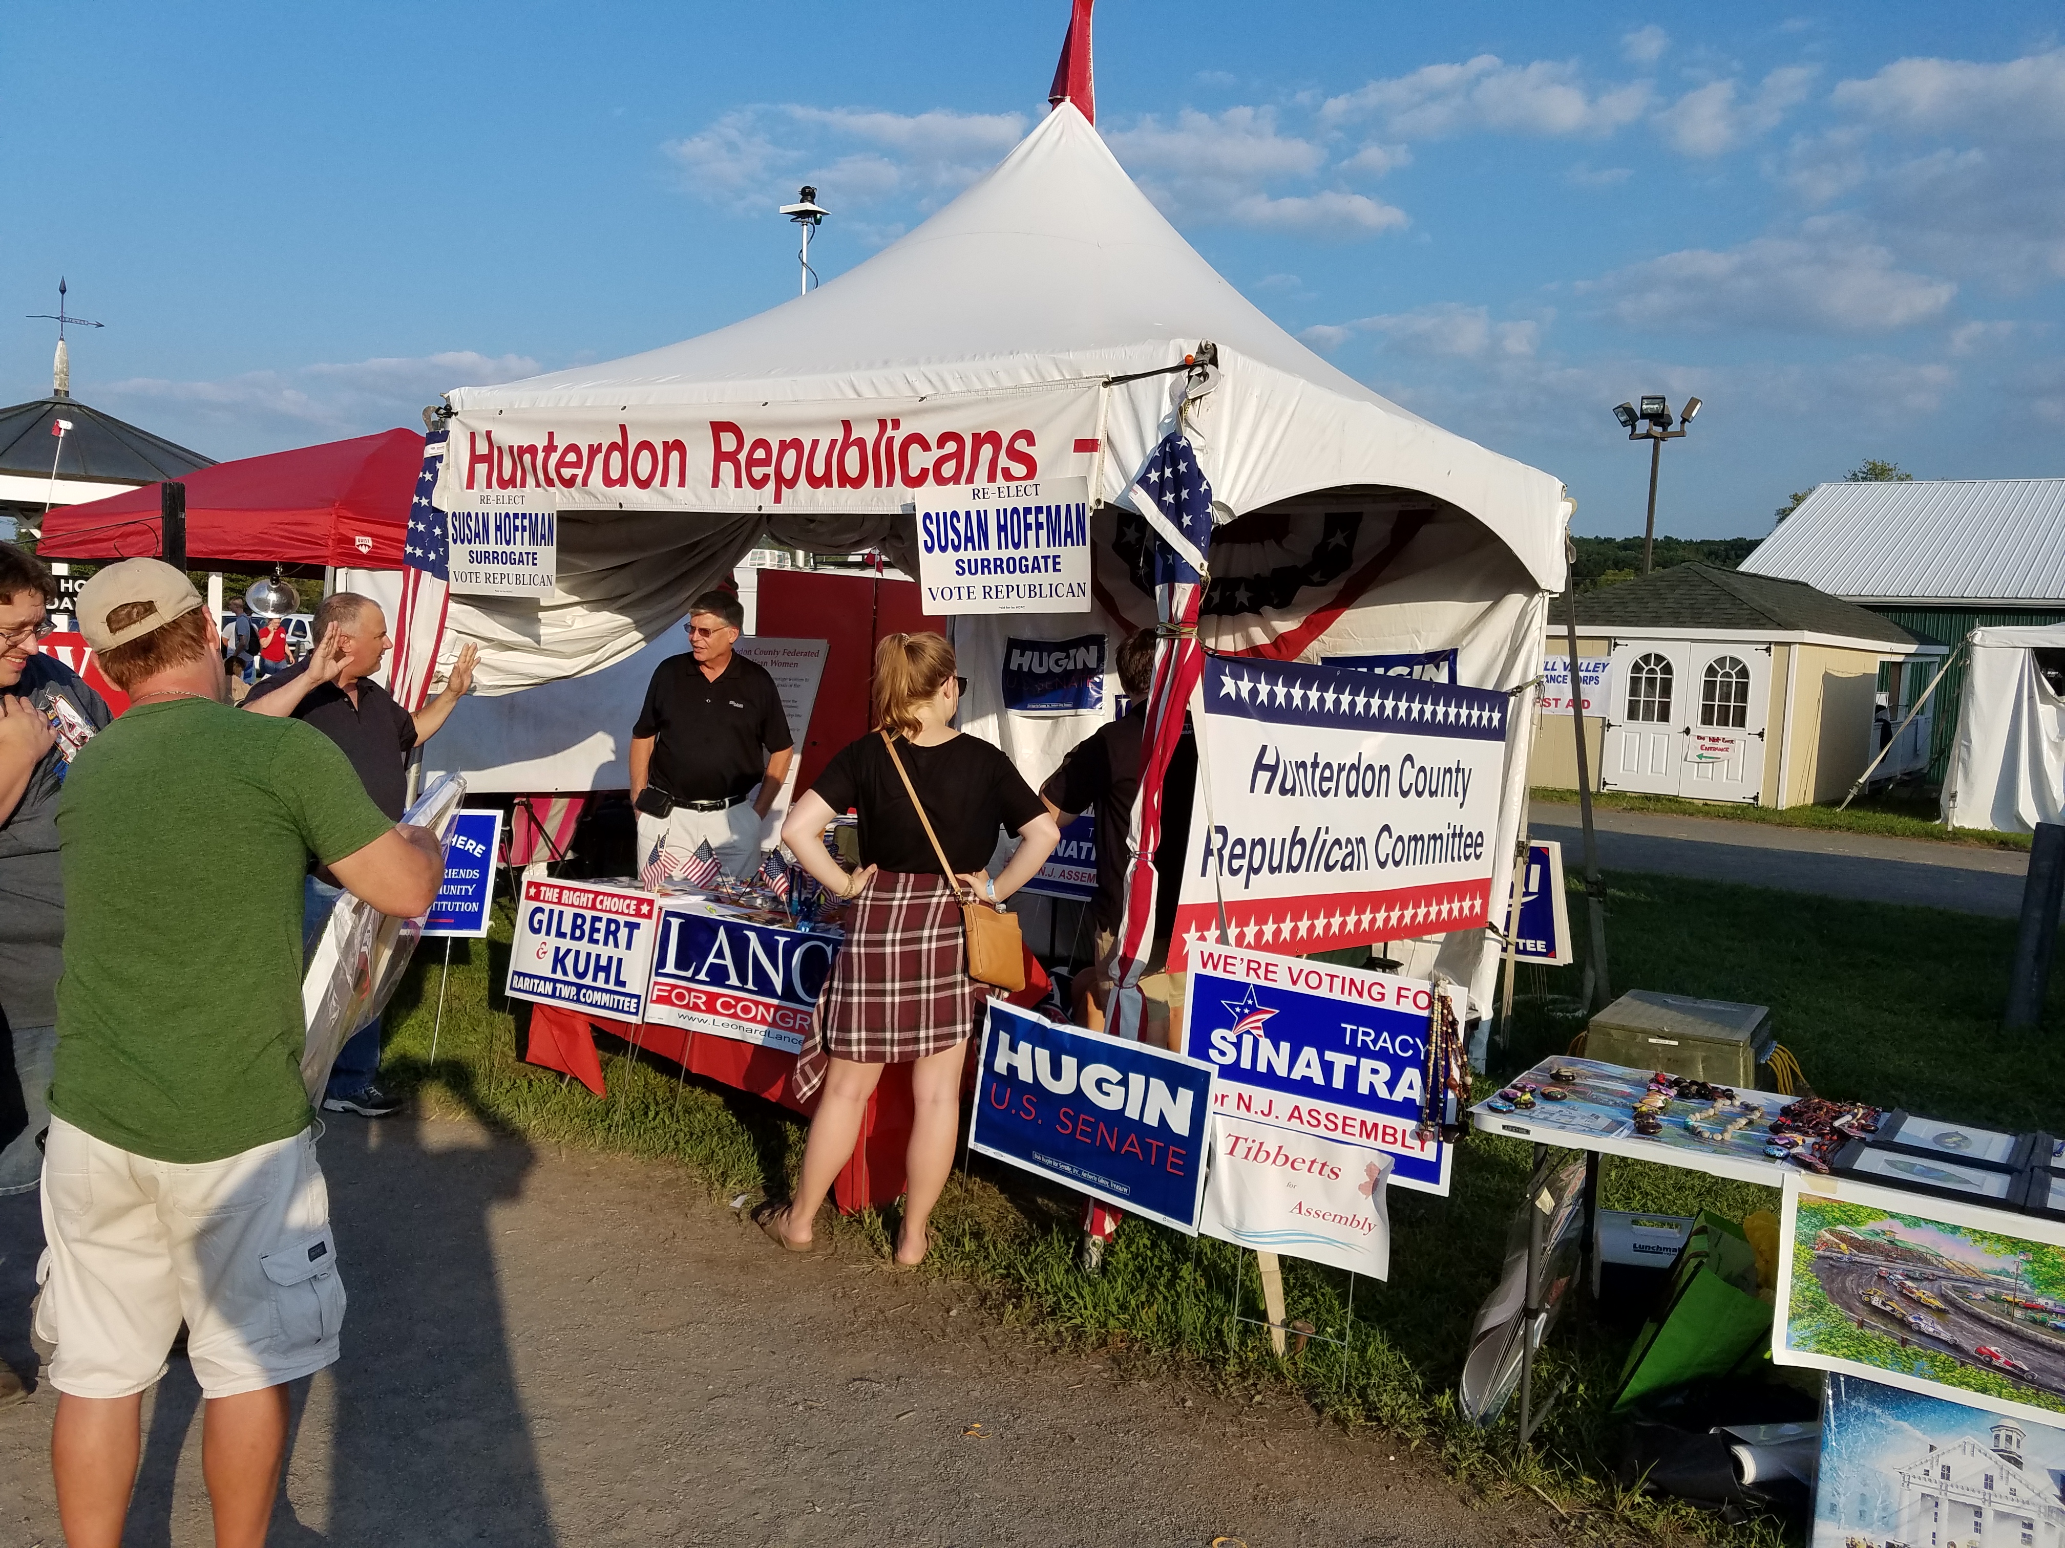
M 0 1195 L 33 1193 L 50 1127 L 50 1061 L 58 1046 L 64 966 L 64 881 L 58 873 L 58 791 L 68 768 L 43 706 L 62 700 L 93 729 L 107 704 L 39 644 L 58 582 L 35 555 L 0 543 Z M 0 1406 L 23 1395 L 0 1364 Z

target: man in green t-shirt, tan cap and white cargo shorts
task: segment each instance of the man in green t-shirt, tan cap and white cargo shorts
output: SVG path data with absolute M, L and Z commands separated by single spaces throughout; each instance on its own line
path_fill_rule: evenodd
M 43 1158 L 52 1468 L 70 1544 L 120 1542 L 142 1393 L 188 1329 L 215 1542 L 262 1544 L 287 1383 L 337 1360 L 345 1290 L 301 1086 L 310 857 L 415 916 L 444 873 L 345 755 L 223 702 L 215 625 L 157 559 L 107 566 L 78 623 L 130 708 L 58 805 L 66 937 Z M 254 921 L 221 949 L 229 885 Z

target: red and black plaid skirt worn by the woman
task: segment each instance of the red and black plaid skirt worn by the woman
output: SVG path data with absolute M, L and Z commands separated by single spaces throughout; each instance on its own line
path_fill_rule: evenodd
M 946 877 L 876 871 L 818 997 L 818 1038 L 797 1061 L 797 1098 L 816 1094 L 826 1055 L 909 1065 L 975 1032 L 991 991 L 968 976 L 962 929 Z

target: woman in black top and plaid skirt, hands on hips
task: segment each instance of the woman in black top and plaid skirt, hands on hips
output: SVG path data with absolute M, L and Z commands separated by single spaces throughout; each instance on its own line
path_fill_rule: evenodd
M 797 1096 L 824 1084 L 809 1121 L 803 1176 L 787 1205 L 758 1220 L 783 1247 L 812 1247 L 812 1222 L 832 1179 L 853 1156 L 867 1098 L 884 1065 L 911 1065 L 909 1193 L 896 1261 L 925 1257 L 925 1222 L 954 1170 L 960 1131 L 960 1059 L 989 991 L 968 978 L 960 898 L 1004 902 L 1047 863 L 1061 830 L 1045 803 L 987 741 L 954 731 L 960 679 L 954 648 L 938 634 L 892 634 L 876 646 L 876 733 L 840 749 L 797 799 L 783 840 L 834 896 L 855 898 L 847 945 L 818 1001 L 820 1049 L 797 1063 Z M 894 741 L 894 757 L 890 751 Z M 950 885 L 896 762 L 925 803 L 954 869 Z M 824 826 L 861 813 L 861 869 L 847 875 L 824 848 Z M 1002 875 L 987 873 L 997 830 L 1018 834 Z

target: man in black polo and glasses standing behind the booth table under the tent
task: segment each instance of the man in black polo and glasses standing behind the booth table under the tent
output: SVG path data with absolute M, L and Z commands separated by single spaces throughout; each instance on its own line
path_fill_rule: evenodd
M 766 667 L 731 650 L 743 625 L 737 596 L 706 590 L 688 609 L 688 654 L 653 669 L 630 757 L 640 867 L 704 842 L 733 875 L 760 861 L 795 737 Z

